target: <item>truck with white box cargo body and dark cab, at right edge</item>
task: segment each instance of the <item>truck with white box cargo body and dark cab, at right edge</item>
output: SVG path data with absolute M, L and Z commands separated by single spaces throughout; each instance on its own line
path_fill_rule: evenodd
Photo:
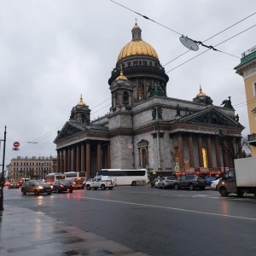
M 256 197 L 256 157 L 236 159 L 235 169 L 226 172 L 218 183 L 218 192 L 222 196 L 247 193 Z

